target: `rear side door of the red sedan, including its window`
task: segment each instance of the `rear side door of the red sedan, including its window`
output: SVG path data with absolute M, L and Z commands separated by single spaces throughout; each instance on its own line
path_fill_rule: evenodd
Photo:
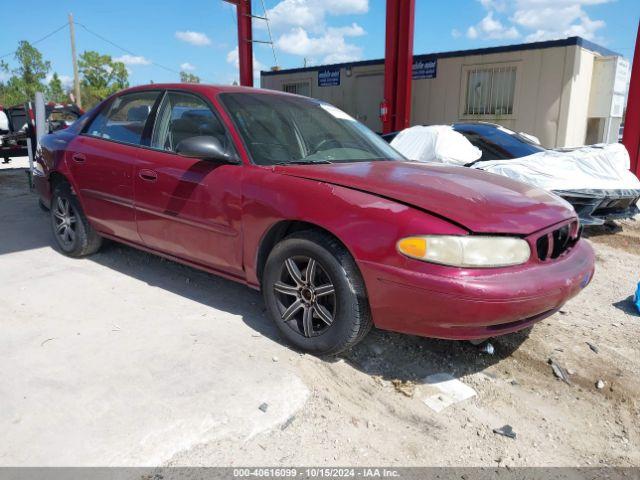
M 103 233 L 140 243 L 134 169 L 160 91 L 117 96 L 69 145 L 66 162 L 87 218 Z

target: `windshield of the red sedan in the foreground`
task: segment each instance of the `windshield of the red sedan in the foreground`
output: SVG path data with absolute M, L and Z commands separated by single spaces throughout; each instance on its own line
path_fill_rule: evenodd
M 258 165 L 404 160 L 332 105 L 263 93 L 225 93 L 220 98 Z

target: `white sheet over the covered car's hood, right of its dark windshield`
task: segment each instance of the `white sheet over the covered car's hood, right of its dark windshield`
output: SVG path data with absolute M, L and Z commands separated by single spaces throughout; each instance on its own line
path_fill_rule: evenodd
M 473 165 L 545 190 L 640 189 L 629 171 L 624 145 L 592 145 L 573 150 L 547 150 L 512 160 L 480 161 Z

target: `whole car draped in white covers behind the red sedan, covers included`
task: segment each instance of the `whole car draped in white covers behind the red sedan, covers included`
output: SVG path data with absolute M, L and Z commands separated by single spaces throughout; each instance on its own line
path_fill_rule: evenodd
M 535 137 L 482 122 L 411 127 L 385 139 L 413 160 L 485 170 L 552 191 L 584 225 L 639 212 L 640 180 L 621 144 L 549 150 Z

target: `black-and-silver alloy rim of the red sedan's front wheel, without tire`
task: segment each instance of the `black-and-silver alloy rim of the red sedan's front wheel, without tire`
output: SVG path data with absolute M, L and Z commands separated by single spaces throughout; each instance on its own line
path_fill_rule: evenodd
M 280 319 L 300 335 L 316 337 L 333 324 L 335 287 L 317 260 L 306 256 L 287 258 L 273 290 Z

